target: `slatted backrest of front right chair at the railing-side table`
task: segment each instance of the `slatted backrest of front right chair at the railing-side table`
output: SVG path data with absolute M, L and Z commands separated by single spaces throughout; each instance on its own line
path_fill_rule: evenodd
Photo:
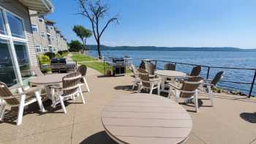
M 195 94 L 196 89 L 203 83 L 202 77 L 189 77 L 182 82 L 180 97 L 188 98 Z

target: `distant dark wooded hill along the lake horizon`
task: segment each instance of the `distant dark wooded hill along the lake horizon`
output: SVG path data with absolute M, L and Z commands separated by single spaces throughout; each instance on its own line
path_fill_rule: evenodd
M 96 45 L 87 45 L 89 50 L 97 50 Z M 241 49 L 241 48 L 232 48 L 232 47 L 223 47 L 223 48 L 194 48 L 194 47 L 154 47 L 154 46 L 117 46 L 110 47 L 106 45 L 101 46 L 101 50 L 168 50 L 168 51 L 255 51 L 256 49 Z

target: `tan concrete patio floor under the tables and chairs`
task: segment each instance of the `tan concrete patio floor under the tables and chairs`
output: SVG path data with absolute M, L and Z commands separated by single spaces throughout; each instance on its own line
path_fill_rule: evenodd
M 0 143 L 115 143 L 105 133 L 101 120 L 104 105 L 119 94 L 130 94 L 132 77 L 102 77 L 88 69 L 90 93 L 84 93 L 86 105 L 80 97 L 67 102 L 67 115 L 45 102 L 47 113 L 39 113 L 32 105 L 23 116 L 23 124 L 13 123 L 15 113 L 8 113 L 0 124 Z M 199 113 L 184 105 L 192 116 L 192 133 L 186 143 L 255 143 L 256 99 L 227 94 L 214 94 L 215 106 L 200 95 Z

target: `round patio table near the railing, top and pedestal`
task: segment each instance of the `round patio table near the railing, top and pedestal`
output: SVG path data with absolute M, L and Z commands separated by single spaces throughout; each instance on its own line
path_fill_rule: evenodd
M 154 74 L 162 78 L 161 91 L 165 91 L 165 81 L 167 78 L 170 78 L 170 80 L 172 80 L 173 82 L 176 77 L 187 76 L 184 72 L 178 72 L 175 70 L 157 70 L 156 72 L 154 72 Z

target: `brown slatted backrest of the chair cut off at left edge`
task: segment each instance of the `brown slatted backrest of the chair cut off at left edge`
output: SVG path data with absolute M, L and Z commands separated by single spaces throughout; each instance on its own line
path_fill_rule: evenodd
M 0 98 L 8 96 L 13 96 L 12 92 L 5 83 L 0 82 Z M 19 105 L 19 101 L 16 98 L 4 99 L 4 101 L 7 102 L 8 105 Z

